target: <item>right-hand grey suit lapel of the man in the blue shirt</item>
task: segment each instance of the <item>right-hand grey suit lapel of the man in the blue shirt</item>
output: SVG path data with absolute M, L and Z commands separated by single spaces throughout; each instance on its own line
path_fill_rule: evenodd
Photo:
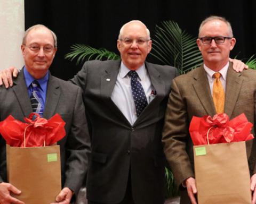
M 44 108 L 45 118 L 50 118 L 54 115 L 57 105 L 60 99 L 60 88 L 58 81 L 54 80 L 52 75 L 49 75 L 49 81 L 47 84 L 46 103 Z

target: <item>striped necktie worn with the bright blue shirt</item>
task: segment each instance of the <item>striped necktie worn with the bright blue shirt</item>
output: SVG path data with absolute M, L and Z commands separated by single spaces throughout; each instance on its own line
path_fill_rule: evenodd
M 34 80 L 30 86 L 33 90 L 31 92 L 31 96 L 30 96 L 32 110 L 34 113 L 38 113 L 40 115 L 40 117 L 43 117 L 44 100 L 39 92 L 40 85 L 39 85 L 38 81 Z

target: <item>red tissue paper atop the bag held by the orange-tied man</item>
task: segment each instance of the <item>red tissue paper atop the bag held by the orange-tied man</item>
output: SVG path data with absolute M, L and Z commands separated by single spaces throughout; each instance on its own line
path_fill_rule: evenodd
M 252 126 L 245 114 L 238 115 L 230 121 L 225 113 L 216 114 L 213 118 L 209 115 L 193 116 L 189 133 L 194 145 L 208 144 L 207 132 L 209 144 L 238 142 L 254 138 L 251 134 Z

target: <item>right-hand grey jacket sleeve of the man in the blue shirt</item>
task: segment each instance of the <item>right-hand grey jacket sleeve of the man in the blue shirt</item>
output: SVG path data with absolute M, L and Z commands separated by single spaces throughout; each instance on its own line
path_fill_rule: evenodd
M 85 117 L 82 90 L 78 88 L 74 105 L 73 120 L 66 142 L 65 184 L 77 195 L 87 172 L 91 142 Z

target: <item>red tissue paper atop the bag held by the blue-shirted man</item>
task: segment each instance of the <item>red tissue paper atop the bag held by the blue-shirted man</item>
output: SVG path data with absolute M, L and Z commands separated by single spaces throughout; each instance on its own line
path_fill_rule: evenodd
M 49 120 L 30 113 L 24 118 L 26 123 L 15 120 L 9 115 L 0 122 L 0 134 L 11 147 L 42 147 L 50 146 L 66 135 L 65 122 L 59 114 Z

